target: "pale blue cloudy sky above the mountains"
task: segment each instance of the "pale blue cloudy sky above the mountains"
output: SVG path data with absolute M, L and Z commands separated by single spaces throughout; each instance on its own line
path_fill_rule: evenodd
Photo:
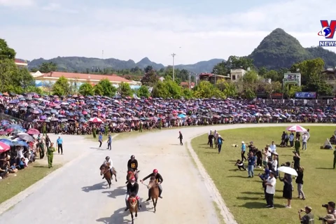
M 320 20 L 336 20 L 334 5 L 334 0 L 0 0 L 0 38 L 28 60 L 148 57 L 171 65 L 175 53 L 175 64 L 194 64 L 249 55 L 276 28 L 304 47 L 316 46 L 325 40 L 317 35 Z

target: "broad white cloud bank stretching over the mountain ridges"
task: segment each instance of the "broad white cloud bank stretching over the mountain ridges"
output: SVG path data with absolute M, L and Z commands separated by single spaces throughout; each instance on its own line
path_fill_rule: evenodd
M 48 14 L 48 20 L 59 22 L 56 27 L 7 27 L 3 37 L 17 50 L 18 57 L 25 59 L 102 57 L 104 50 L 105 58 L 138 61 L 149 57 L 172 64 L 170 54 L 175 52 L 176 64 L 189 64 L 248 55 L 277 27 L 295 36 L 304 47 L 318 45 L 320 20 L 336 19 L 336 9 L 325 11 L 328 3 L 331 6 L 333 1 L 323 0 L 323 5 L 315 0 L 287 1 L 222 16 L 190 16 L 171 10 L 88 9 L 64 17 Z M 56 11 L 62 9 L 56 4 L 49 6 Z M 323 18 L 316 12 L 323 12 Z M 45 16 L 43 19 L 47 20 Z

